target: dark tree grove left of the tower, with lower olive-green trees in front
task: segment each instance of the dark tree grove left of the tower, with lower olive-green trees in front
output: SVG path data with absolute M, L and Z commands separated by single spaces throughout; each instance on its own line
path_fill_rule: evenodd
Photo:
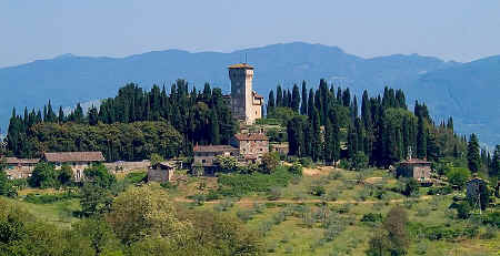
M 80 104 L 69 114 L 51 102 L 23 115 L 12 110 L 7 136 L 8 153 L 37 157 L 48 151 L 102 151 L 108 161 L 190 155 L 192 145 L 227 144 L 237 131 L 229 103 L 220 89 L 204 84 L 189 91 L 184 80 L 161 90 L 144 91 L 134 83 L 118 95 L 83 113 Z M 170 125 L 171 124 L 171 125 Z M 176 147 L 176 149 L 174 149 Z

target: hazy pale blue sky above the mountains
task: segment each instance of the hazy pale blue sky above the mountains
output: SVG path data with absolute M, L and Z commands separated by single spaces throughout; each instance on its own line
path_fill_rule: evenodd
M 230 52 L 279 42 L 377 57 L 500 54 L 497 0 L 1 0 L 0 66 L 63 53 Z

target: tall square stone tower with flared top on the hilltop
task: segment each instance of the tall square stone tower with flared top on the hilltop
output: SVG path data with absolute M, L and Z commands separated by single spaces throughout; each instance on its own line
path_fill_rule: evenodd
M 252 90 L 253 66 L 239 63 L 229 66 L 231 107 L 236 119 L 253 124 L 262 117 L 263 98 Z

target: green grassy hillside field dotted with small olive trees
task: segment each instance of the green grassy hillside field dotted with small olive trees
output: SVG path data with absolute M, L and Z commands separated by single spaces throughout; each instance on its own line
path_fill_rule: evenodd
M 263 236 L 269 255 L 366 255 L 368 243 L 381 224 L 361 219 L 369 213 L 386 216 L 394 205 L 408 212 L 412 225 L 479 228 L 473 237 L 439 240 L 411 234 L 409 255 L 500 255 L 498 231 L 494 231 L 496 237 L 486 238 L 484 225 L 474 224 L 473 218 L 457 219 L 456 213 L 448 209 L 458 192 L 428 196 L 427 188 L 420 188 L 420 196 L 407 198 L 394 192 L 398 181 L 382 170 L 368 170 L 360 174 L 322 167 L 304 168 L 303 173 L 301 178 L 292 178 L 288 186 L 277 188 L 279 192 L 273 192 L 272 199 L 271 192 L 207 202 L 192 199 L 193 195 L 216 191 L 216 177 L 189 177 L 170 188 L 159 184 L 152 186 L 168 190 L 177 204 L 237 215 L 244 225 Z M 311 188 L 318 186 L 324 190 L 321 196 L 311 194 Z M 383 194 L 377 194 L 377 191 L 383 191 Z M 72 216 L 72 212 L 79 209 L 78 199 L 53 204 L 18 201 L 36 216 L 59 226 L 70 227 L 71 223 L 78 222 Z

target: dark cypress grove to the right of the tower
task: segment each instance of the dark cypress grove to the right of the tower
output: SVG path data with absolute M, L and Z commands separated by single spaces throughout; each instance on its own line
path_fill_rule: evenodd
M 333 163 L 361 154 L 371 165 L 389 166 L 410 154 L 436 161 L 467 152 L 467 140 L 454 133 L 451 117 L 436 125 L 427 105 L 418 101 L 409 111 L 401 90 L 386 88 L 371 98 L 364 91 L 361 104 L 349 89 L 328 86 L 326 80 L 317 90 L 302 82 L 302 90 L 278 85 L 276 92 L 269 93 L 268 116 L 279 115 L 283 107 L 297 113 L 287 125 L 292 155 Z

